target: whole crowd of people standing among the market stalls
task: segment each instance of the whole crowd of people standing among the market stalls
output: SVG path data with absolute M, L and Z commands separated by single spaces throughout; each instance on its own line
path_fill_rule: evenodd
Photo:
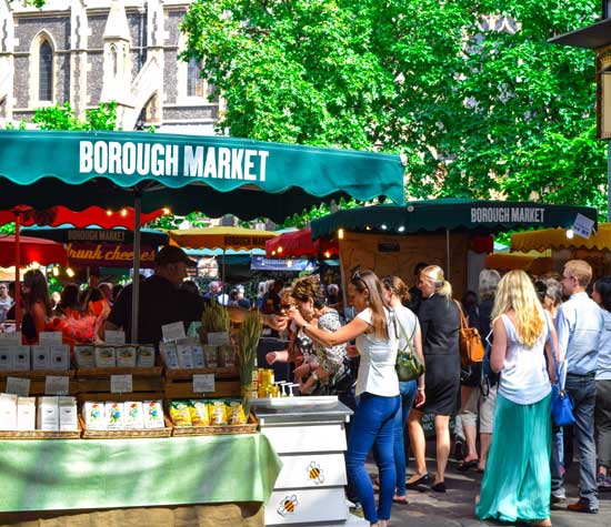
M 571 468 L 573 444 L 579 497 L 567 508 L 595 514 L 598 493 L 611 489 L 611 276 L 592 284 L 587 262 L 567 262 L 560 280 L 483 270 L 478 292 L 468 292 L 460 303 L 437 265 L 418 264 L 411 288 L 399 276 L 380 280 L 357 270 L 347 284 L 351 311 L 341 308 L 339 287 L 324 286 L 317 276 L 290 285 L 270 281 L 252 303 L 241 286 L 222 296 L 212 283 L 202 295 L 186 281 L 190 265 L 178 247 L 158 253 L 154 274 L 140 282 L 138 341 L 157 344 L 164 324 L 200 320 L 212 300 L 242 312 L 259 308 L 274 336 L 288 339 L 284 349 L 266 355 L 268 364 L 290 363 L 302 395 L 337 395 L 354 411 L 345 429 L 347 498 L 362 507 L 372 526 L 388 525 L 392 504 L 408 503 L 408 489 L 449 489 L 452 416 L 457 469 L 483 473 L 475 500 L 480 519 L 550 526 L 550 508 L 567 500 L 563 476 Z M 23 342 L 36 344 L 42 331 L 61 331 L 70 344 L 103 337 L 104 330 L 129 334 L 132 294 L 131 285 L 121 291 L 104 283 L 66 284 L 53 302 L 44 275 L 28 271 Z M 11 291 L 0 284 L 0 315 L 14 317 L 12 311 Z M 489 344 L 483 366 L 461 365 L 461 312 Z M 397 353 L 407 346 L 424 373 L 399 382 Z M 570 427 L 551 419 L 557 383 L 573 403 Z M 432 477 L 424 414 L 434 422 Z M 370 454 L 378 466 L 373 479 L 365 469 Z

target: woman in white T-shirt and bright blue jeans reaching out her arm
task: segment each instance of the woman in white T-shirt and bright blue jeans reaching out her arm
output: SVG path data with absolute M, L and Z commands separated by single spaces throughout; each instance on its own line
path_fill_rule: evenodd
M 308 324 L 297 310 L 291 310 L 290 316 L 308 336 L 325 346 L 357 341 L 355 351 L 361 356 L 355 391 L 359 405 L 348 442 L 347 466 L 365 519 L 371 526 L 387 527 L 397 485 L 393 422 L 400 404 L 399 379 L 394 372 L 398 348 L 394 314 L 384 300 L 382 284 L 371 271 L 355 272 L 348 294 L 358 315 L 334 333 Z M 378 452 L 380 474 L 378 508 L 364 465 L 372 448 Z

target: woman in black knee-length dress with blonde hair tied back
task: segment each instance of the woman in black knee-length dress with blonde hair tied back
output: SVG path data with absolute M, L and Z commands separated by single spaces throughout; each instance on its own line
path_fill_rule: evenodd
M 413 408 L 408 417 L 415 474 L 408 479 L 407 486 L 422 490 L 423 485 L 429 484 L 424 458 L 427 443 L 421 420 L 424 414 L 433 414 L 437 472 L 431 488 L 444 493 L 445 466 L 450 454 L 450 415 L 455 409 L 460 389 L 460 314 L 452 301 L 452 286 L 438 265 L 429 265 L 420 272 L 418 288 L 422 292 L 418 318 L 427 368 L 425 403 L 420 408 Z

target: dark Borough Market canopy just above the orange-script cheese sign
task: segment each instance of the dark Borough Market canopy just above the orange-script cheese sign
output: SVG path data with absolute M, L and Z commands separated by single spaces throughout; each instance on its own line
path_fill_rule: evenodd
M 26 236 L 43 237 L 60 243 L 133 243 L 133 231 L 128 229 L 74 229 L 71 225 L 57 227 L 31 226 L 21 229 Z M 168 233 L 154 229 L 142 229 L 140 236 L 143 245 L 166 245 L 170 239 Z

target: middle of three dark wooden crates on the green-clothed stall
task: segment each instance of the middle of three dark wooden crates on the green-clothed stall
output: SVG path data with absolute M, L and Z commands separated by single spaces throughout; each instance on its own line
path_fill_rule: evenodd
M 112 375 L 131 375 L 133 393 L 159 392 L 163 389 L 161 367 L 152 368 L 79 368 L 77 379 L 79 393 L 110 393 Z

